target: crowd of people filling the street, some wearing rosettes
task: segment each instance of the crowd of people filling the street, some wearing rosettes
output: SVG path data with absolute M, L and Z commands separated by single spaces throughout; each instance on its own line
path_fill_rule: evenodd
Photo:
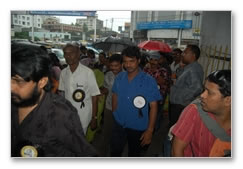
M 63 52 L 66 68 L 41 47 L 11 48 L 12 157 L 121 157 L 126 144 L 144 157 L 165 111 L 162 156 L 231 156 L 231 71 L 204 81 L 197 45 L 145 61 L 136 46 L 98 61 L 78 44 Z

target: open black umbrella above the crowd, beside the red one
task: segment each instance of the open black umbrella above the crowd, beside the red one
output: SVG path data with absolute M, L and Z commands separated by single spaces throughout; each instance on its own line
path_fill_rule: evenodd
M 135 44 L 129 39 L 121 39 L 110 36 L 100 39 L 98 42 L 95 42 L 93 46 L 96 49 L 102 49 L 104 52 L 116 53 L 122 52 L 122 50 L 128 46 L 135 46 Z

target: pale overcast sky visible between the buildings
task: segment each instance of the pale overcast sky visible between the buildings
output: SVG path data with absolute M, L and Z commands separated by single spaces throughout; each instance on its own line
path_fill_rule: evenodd
M 124 30 L 124 23 L 130 22 L 131 11 L 97 11 L 98 19 L 104 21 L 104 27 L 107 25 L 108 28 L 111 28 L 112 18 L 113 18 L 113 29 L 118 31 L 118 26 L 122 26 Z M 76 23 L 76 16 L 58 16 L 61 19 L 61 23 Z

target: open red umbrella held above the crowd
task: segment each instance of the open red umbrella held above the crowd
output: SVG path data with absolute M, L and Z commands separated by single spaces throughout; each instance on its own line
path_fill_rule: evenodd
M 160 42 L 160 41 L 144 41 L 141 42 L 140 44 L 138 44 L 139 48 L 142 49 L 147 49 L 147 50 L 157 50 L 157 51 L 161 51 L 161 52 L 171 52 L 171 48 L 169 47 L 169 45 L 167 45 L 166 43 Z

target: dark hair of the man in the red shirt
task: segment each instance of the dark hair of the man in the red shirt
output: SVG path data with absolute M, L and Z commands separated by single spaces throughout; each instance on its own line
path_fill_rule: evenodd
M 214 71 L 208 75 L 206 80 L 217 84 L 224 97 L 231 96 L 231 70 Z

